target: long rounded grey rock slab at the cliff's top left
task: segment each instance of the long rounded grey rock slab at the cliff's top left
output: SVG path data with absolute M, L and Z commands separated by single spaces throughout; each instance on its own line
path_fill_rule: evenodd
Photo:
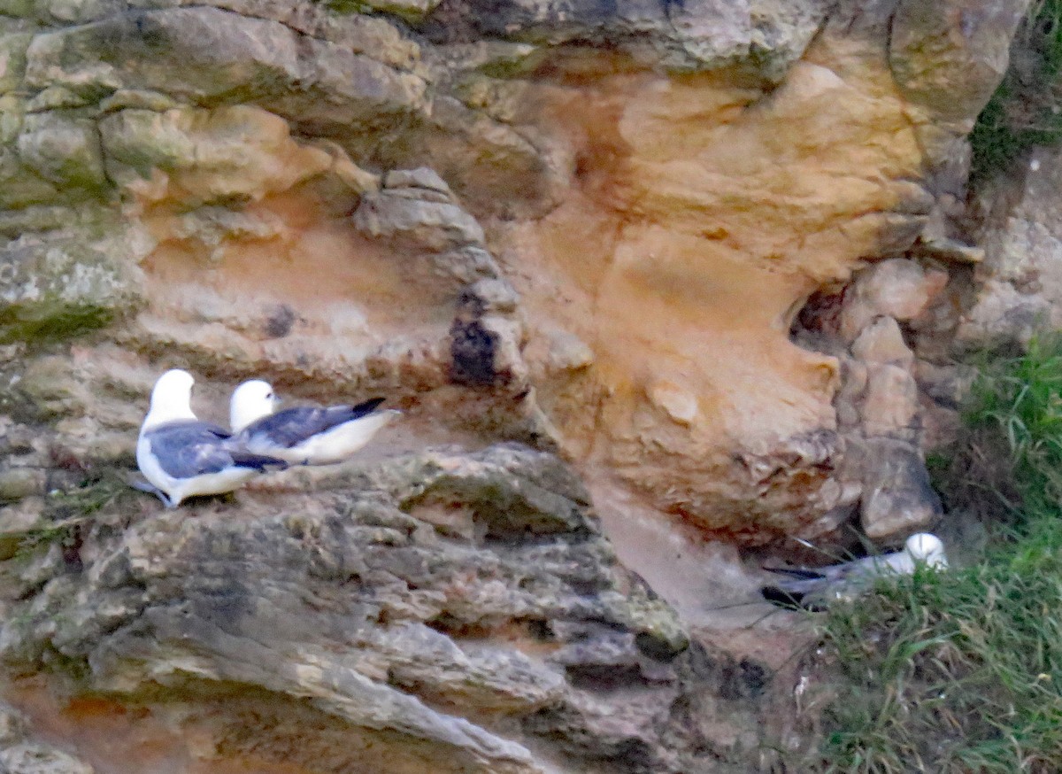
M 129 11 L 37 35 L 25 84 L 93 99 L 156 90 L 192 104 L 240 95 L 307 123 L 413 111 L 424 88 L 413 75 L 279 22 L 211 7 Z

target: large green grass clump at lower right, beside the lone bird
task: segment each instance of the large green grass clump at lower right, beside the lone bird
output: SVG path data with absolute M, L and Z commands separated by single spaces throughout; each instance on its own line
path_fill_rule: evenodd
M 822 621 L 835 694 L 807 771 L 1062 771 L 1062 338 L 982 364 L 940 466 L 990 540 L 972 566 L 884 579 Z

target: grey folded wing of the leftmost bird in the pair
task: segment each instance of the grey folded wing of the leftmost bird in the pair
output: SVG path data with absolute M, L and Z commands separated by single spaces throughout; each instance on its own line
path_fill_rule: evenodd
M 218 473 L 233 467 L 287 467 L 282 460 L 230 448 L 229 434 L 206 422 L 172 422 L 149 431 L 151 453 L 159 467 L 174 478 Z

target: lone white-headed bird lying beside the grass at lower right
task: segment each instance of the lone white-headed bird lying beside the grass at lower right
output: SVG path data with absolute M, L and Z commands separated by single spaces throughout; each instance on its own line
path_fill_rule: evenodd
M 823 610 L 830 602 L 851 600 L 867 591 L 879 577 L 896 574 L 910 575 L 923 565 L 937 569 L 947 567 L 944 543 L 936 535 L 919 533 L 904 543 L 904 550 L 894 554 L 868 556 L 816 569 L 765 567 L 769 572 L 790 576 L 774 586 L 764 586 L 760 593 L 768 602 L 783 607 L 802 607 Z

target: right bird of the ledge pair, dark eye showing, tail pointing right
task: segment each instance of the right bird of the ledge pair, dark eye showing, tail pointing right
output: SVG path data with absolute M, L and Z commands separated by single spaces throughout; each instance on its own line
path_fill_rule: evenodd
M 377 411 L 374 398 L 356 406 L 296 406 L 276 411 L 279 403 L 269 382 L 251 380 L 233 391 L 229 424 L 250 451 L 293 465 L 342 462 L 372 440 L 400 411 Z

